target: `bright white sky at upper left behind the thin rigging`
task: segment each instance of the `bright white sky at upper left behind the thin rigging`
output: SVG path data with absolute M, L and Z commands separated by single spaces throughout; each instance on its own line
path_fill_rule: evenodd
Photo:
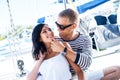
M 57 0 L 9 0 L 14 25 L 34 25 L 40 17 L 58 12 L 51 7 Z M 63 4 L 62 4 L 63 5 Z M 11 28 L 7 0 L 0 0 L 0 33 Z

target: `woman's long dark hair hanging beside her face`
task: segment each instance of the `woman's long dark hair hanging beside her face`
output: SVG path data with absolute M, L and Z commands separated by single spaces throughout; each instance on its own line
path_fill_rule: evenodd
M 42 52 L 42 54 L 44 54 L 47 51 L 45 44 L 40 41 L 40 39 L 41 39 L 40 33 L 41 33 L 44 25 L 46 25 L 46 24 L 36 25 L 32 32 L 32 43 L 33 43 L 32 56 L 35 60 L 39 59 L 40 52 Z

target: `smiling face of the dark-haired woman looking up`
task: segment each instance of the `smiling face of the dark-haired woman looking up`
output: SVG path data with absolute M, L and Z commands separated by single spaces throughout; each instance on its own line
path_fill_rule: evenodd
M 49 43 L 54 39 L 53 31 L 48 27 L 48 25 L 44 25 L 42 31 L 40 33 L 41 40 L 44 43 Z

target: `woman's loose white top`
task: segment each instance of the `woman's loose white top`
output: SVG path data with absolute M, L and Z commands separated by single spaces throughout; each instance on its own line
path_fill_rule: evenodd
M 37 80 L 70 80 L 72 77 L 69 64 L 62 54 L 44 60 L 39 72 L 42 75 Z

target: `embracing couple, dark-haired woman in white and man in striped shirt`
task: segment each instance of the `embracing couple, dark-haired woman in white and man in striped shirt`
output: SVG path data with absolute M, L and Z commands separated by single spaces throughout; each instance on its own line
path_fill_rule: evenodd
M 47 24 L 35 26 L 32 55 L 36 64 L 28 74 L 28 80 L 72 80 L 74 74 L 79 80 L 120 78 L 119 66 L 86 74 L 92 62 L 92 41 L 89 36 L 76 32 L 78 22 L 78 14 L 74 10 L 60 12 L 55 22 L 61 37 L 59 39 L 54 37 Z

